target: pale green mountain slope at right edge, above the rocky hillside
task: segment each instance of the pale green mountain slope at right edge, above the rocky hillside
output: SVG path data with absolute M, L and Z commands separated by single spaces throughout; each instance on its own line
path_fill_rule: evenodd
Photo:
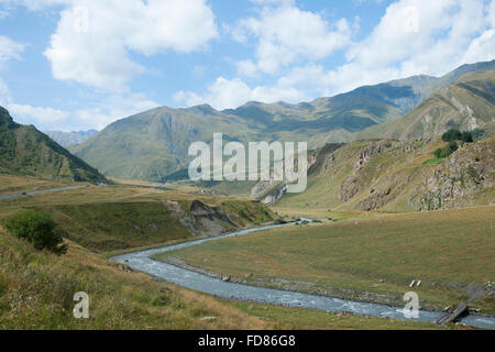
M 403 118 L 372 127 L 356 139 L 411 140 L 442 134 L 451 128 L 474 130 L 495 121 L 495 70 L 469 73 L 437 90 Z

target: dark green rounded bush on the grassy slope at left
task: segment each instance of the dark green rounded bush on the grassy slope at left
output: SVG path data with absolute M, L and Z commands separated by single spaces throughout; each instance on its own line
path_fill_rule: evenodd
M 13 235 L 26 240 L 38 250 L 47 250 L 57 255 L 67 253 L 64 231 L 57 227 L 51 215 L 41 211 L 22 211 L 10 217 L 6 229 Z

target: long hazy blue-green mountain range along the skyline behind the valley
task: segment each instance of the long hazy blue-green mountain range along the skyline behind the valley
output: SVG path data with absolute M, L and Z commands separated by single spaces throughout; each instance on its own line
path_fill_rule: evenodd
M 346 142 L 366 128 L 398 119 L 462 74 L 486 69 L 495 69 L 495 61 L 440 78 L 416 76 L 298 105 L 157 108 L 117 121 L 70 151 L 108 176 L 162 182 L 188 164 L 191 142 L 209 142 L 215 132 L 228 141 L 305 141 L 314 148 Z

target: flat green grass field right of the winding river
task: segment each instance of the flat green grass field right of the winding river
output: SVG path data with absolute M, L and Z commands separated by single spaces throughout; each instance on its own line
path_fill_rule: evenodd
M 252 273 L 248 283 L 253 285 L 354 299 L 363 299 L 364 293 L 396 297 L 385 301 L 389 304 L 400 304 L 406 292 L 415 290 L 427 308 L 443 309 L 472 298 L 471 306 L 494 314 L 493 290 L 475 299 L 495 278 L 494 210 L 348 218 L 219 240 L 166 256 L 239 280 Z M 420 279 L 420 287 L 409 288 L 413 279 Z

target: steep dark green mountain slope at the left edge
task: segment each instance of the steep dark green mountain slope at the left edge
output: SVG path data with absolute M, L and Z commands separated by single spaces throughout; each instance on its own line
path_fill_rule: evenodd
M 105 176 L 32 125 L 15 123 L 0 107 L 0 173 L 57 180 L 98 182 Z

